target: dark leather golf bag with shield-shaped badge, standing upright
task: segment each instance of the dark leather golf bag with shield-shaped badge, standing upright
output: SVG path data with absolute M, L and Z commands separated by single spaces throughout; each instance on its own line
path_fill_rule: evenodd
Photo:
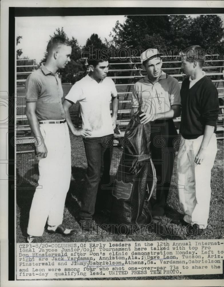
M 121 145 L 124 148 L 112 189 L 111 222 L 118 233 L 140 232 L 152 220 L 150 197 L 156 172 L 150 157 L 150 124 L 129 122 Z

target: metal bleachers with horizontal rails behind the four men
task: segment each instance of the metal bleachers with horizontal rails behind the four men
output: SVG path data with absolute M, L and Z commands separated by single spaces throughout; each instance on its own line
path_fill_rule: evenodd
M 218 93 L 219 93 L 219 118 L 217 125 L 217 139 L 223 139 L 223 100 L 224 100 L 224 71 L 223 63 L 224 59 L 218 59 L 219 55 L 212 55 L 213 59 L 206 59 L 203 70 L 211 78 L 212 82 L 215 84 Z M 211 55 L 209 55 L 211 58 Z M 86 73 L 88 70 L 88 62 L 86 58 L 81 60 L 85 61 Z M 20 60 L 17 60 L 20 61 Z M 24 60 L 22 60 L 24 61 Z M 34 65 L 17 65 L 17 77 L 20 75 L 29 75 L 36 67 Z M 30 71 L 19 71 L 21 67 L 30 67 Z M 178 82 L 181 86 L 181 83 L 185 77 L 181 73 L 181 61 L 175 59 L 175 57 L 169 59 L 163 59 L 162 70 L 169 75 L 178 79 Z M 117 146 L 120 143 L 120 139 L 124 136 L 125 127 L 130 120 L 130 103 L 131 95 L 135 82 L 144 77 L 146 72 L 142 69 L 140 63 L 140 57 L 114 57 L 110 59 L 110 69 L 108 71 L 108 77 L 114 80 L 118 95 L 120 98 L 119 109 L 118 109 L 118 118 L 117 124 L 118 129 L 115 134 L 114 145 Z M 16 131 L 17 131 L 17 143 L 19 145 L 30 144 L 33 141 L 33 137 L 30 135 L 30 127 L 25 115 L 25 93 L 20 93 L 22 89 L 24 90 L 24 84 L 26 79 L 17 79 L 17 98 L 16 98 Z M 18 96 L 23 94 L 22 96 Z M 76 114 L 76 119 L 73 119 L 74 124 L 77 126 L 81 125 L 80 119 L 80 110 Z M 179 130 L 180 117 L 173 119 L 177 130 Z M 34 151 L 33 146 L 30 149 L 17 149 L 17 152 L 31 152 Z

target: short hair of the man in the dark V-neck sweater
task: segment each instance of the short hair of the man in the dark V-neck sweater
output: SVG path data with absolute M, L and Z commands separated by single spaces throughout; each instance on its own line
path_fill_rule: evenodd
M 199 67 L 203 67 L 205 63 L 205 49 L 202 49 L 199 45 L 190 46 L 179 54 L 180 57 L 185 56 L 186 60 L 189 62 L 197 61 Z

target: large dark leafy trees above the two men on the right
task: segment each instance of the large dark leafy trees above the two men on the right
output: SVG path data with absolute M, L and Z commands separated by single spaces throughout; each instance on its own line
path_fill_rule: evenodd
M 198 44 L 213 53 L 224 54 L 224 30 L 218 15 L 138 15 L 118 21 L 110 34 L 108 46 L 116 49 L 185 49 Z M 140 52 L 139 52 L 140 54 Z

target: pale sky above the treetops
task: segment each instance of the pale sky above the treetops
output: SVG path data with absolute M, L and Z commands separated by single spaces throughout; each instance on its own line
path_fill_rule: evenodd
M 218 15 L 224 23 L 224 14 Z M 23 38 L 16 49 L 22 49 L 21 57 L 36 59 L 39 63 L 46 51 L 49 35 L 53 35 L 56 28 L 64 27 L 69 38 L 73 36 L 78 40 L 79 45 L 84 46 L 93 33 L 98 34 L 102 42 L 104 38 L 109 40 L 109 34 L 117 20 L 123 24 L 125 17 L 123 15 L 17 17 L 15 36 Z

